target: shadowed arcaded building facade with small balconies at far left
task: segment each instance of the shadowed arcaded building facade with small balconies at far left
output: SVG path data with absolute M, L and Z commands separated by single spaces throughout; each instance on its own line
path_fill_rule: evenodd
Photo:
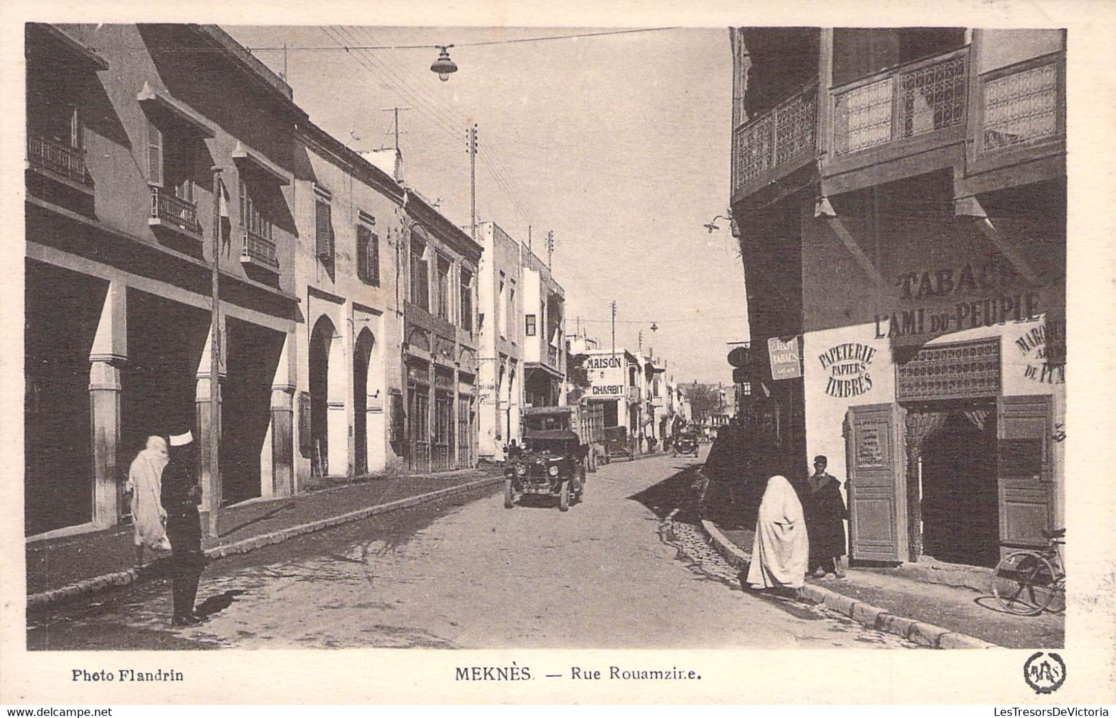
M 213 356 L 224 468 L 206 495 L 288 485 L 290 88 L 211 26 L 30 23 L 26 48 L 27 534 L 119 521 L 150 434 L 193 427 L 205 456 Z

